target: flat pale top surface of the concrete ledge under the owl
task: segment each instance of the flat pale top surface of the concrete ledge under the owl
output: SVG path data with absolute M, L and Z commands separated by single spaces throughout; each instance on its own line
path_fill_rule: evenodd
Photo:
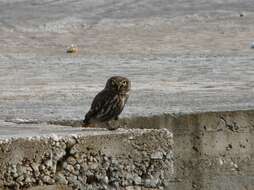
M 141 130 L 136 129 L 136 132 Z M 114 131 L 106 128 L 82 128 L 62 125 L 50 125 L 47 123 L 38 124 L 16 124 L 11 122 L 0 122 L 0 141 L 4 142 L 24 138 L 24 139 L 40 139 L 53 138 L 60 139 L 64 137 L 78 137 L 78 136 L 98 136 L 98 135 L 121 135 L 132 133 L 132 130 L 118 129 Z

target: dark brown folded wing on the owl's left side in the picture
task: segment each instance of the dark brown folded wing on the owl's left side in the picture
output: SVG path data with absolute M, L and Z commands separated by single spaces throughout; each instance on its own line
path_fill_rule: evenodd
M 92 106 L 85 116 L 85 124 L 89 124 L 91 119 L 95 119 L 98 116 L 101 110 L 105 107 L 105 104 L 108 103 L 111 96 L 112 93 L 108 90 L 102 90 L 95 96 Z

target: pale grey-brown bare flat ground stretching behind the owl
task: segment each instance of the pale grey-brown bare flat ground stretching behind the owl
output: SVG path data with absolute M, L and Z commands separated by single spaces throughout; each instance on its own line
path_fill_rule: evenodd
M 0 0 L 0 118 L 81 119 L 115 74 L 133 82 L 124 116 L 252 109 L 253 10 L 252 0 Z

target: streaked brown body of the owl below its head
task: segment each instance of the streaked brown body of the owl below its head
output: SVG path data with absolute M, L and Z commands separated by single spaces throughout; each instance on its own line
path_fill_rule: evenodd
M 119 94 L 107 89 L 102 90 L 95 96 L 92 106 L 85 116 L 84 123 L 104 122 L 117 118 L 127 99 L 128 94 Z

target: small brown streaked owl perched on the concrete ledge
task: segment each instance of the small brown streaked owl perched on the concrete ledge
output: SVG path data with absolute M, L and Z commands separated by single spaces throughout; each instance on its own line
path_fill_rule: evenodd
M 84 125 L 117 120 L 128 100 L 130 88 L 131 82 L 125 77 L 109 78 L 105 88 L 93 99 Z

